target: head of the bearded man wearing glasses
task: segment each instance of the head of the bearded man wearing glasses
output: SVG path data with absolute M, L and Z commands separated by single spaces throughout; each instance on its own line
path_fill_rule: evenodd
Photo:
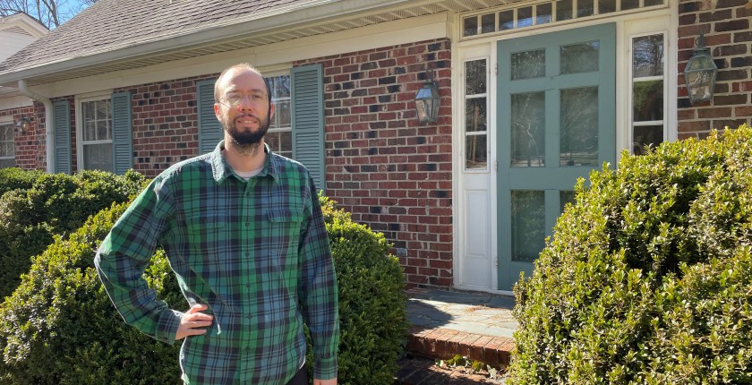
M 261 75 L 237 69 L 219 81 L 220 98 L 214 104 L 214 113 L 230 140 L 241 147 L 261 143 L 274 114 Z

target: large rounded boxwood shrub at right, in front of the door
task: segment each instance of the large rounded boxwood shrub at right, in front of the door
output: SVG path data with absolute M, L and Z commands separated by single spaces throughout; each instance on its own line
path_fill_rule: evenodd
M 752 129 L 577 183 L 515 287 L 508 383 L 752 383 Z

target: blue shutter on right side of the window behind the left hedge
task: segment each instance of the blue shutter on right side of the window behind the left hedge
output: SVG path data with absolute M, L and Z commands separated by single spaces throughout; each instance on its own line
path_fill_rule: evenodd
M 113 172 L 125 174 L 133 167 L 131 93 L 112 94 L 112 156 Z

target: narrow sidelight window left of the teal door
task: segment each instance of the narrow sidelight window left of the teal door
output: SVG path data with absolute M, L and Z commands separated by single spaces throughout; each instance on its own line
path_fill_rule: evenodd
M 487 59 L 465 62 L 465 168 L 488 165 Z

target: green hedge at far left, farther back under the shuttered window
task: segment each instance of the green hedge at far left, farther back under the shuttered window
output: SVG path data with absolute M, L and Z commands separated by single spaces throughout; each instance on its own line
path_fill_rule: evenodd
M 143 184 L 144 177 L 134 171 L 65 175 L 16 168 L 0 173 L 0 185 L 13 187 L 0 197 L 0 298 L 13 293 L 21 273 L 30 268 L 30 257 L 43 252 L 53 235 L 66 237 L 113 202 L 128 201 Z

